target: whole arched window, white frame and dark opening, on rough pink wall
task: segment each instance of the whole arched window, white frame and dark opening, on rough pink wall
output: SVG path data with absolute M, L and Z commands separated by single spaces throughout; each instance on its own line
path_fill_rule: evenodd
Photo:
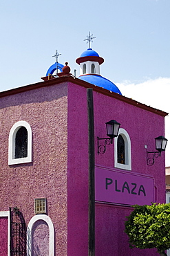
M 16 122 L 10 129 L 8 165 L 32 162 L 32 130 L 28 122 Z

